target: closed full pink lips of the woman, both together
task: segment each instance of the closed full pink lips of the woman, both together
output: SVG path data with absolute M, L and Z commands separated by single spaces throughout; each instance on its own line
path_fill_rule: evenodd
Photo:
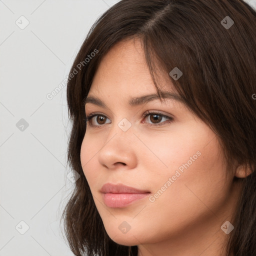
M 100 192 L 102 193 L 105 205 L 111 208 L 125 207 L 150 193 L 149 191 L 140 190 L 121 183 L 116 185 L 106 183 L 101 187 Z

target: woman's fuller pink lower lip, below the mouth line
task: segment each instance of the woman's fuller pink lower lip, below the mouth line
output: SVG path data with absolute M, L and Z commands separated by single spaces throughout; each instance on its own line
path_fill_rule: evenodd
M 128 204 L 144 198 L 149 193 L 103 193 L 103 200 L 106 206 L 111 208 L 121 208 Z

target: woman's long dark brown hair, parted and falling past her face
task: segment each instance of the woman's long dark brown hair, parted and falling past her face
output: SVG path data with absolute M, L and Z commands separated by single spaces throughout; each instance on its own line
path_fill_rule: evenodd
M 250 167 L 252 174 L 237 178 L 242 190 L 226 255 L 256 255 L 256 11 L 242 0 L 121 0 L 93 24 L 67 83 L 72 121 L 67 161 L 80 174 L 61 216 L 72 252 L 137 255 L 136 245 L 117 244 L 107 235 L 80 162 L 86 131 L 83 100 L 95 71 L 115 43 L 132 37 L 143 42 L 159 97 L 156 68 L 169 73 L 178 67 L 182 76 L 169 79 L 186 105 L 216 133 L 227 171 L 235 164 Z

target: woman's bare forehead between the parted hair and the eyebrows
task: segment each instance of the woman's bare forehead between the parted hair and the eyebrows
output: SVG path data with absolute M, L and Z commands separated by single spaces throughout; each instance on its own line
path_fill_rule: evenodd
M 174 91 L 168 74 L 157 75 L 157 86 L 165 91 Z M 94 74 L 89 94 L 107 96 L 124 94 L 156 93 L 144 50 L 139 38 L 116 43 L 104 55 Z

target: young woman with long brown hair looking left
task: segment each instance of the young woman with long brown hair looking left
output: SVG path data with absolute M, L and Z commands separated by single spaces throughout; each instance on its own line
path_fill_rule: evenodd
M 75 255 L 256 255 L 256 12 L 121 0 L 69 73 Z

